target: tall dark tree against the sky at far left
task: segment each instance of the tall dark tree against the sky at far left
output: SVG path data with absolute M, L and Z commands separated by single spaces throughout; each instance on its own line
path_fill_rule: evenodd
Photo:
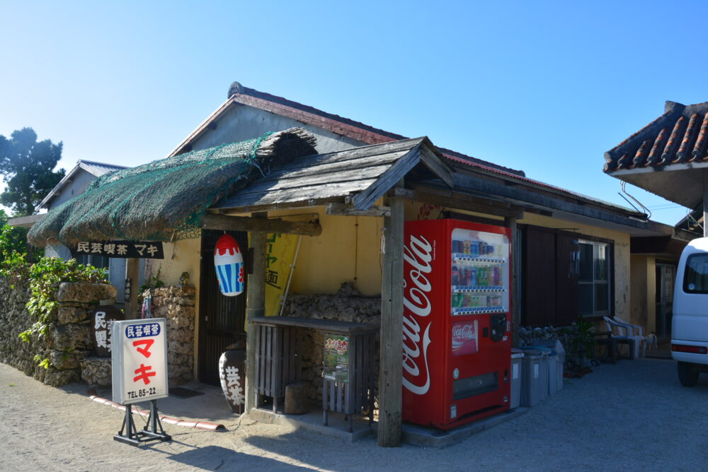
M 64 177 L 64 169 L 54 168 L 62 158 L 62 143 L 49 139 L 37 141 L 32 128 L 13 131 L 10 138 L 0 134 L 0 175 L 7 187 L 0 194 L 0 204 L 13 216 L 29 216 L 37 205 Z

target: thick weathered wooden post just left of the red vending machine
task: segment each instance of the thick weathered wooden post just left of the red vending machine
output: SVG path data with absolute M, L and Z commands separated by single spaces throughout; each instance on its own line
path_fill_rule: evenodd
M 401 445 L 403 378 L 404 201 L 388 199 L 384 217 L 385 253 L 381 277 L 381 358 L 379 370 L 379 446 Z

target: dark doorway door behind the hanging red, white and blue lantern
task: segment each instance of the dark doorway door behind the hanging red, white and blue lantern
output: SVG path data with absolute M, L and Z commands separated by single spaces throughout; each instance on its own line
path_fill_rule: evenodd
M 246 232 L 227 231 L 239 243 L 242 251 L 248 248 Z M 246 290 L 236 297 L 225 297 L 219 291 L 214 269 L 214 247 L 224 231 L 202 231 L 201 278 L 199 295 L 199 361 L 198 377 L 205 384 L 219 385 L 219 357 L 224 349 L 245 336 Z

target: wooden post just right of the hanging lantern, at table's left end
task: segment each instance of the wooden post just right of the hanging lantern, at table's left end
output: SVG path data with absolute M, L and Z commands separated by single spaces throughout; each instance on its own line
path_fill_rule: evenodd
M 253 213 L 253 218 L 268 218 L 268 213 Z M 246 413 L 256 407 L 256 326 L 252 317 L 265 314 L 265 232 L 251 232 L 253 273 L 249 274 L 246 298 Z

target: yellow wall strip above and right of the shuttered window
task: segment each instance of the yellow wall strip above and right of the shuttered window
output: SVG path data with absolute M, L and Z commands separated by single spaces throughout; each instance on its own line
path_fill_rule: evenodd
M 560 220 L 549 216 L 525 213 L 524 217 L 518 220 L 520 224 L 543 226 L 544 228 L 563 228 L 564 231 L 576 232 L 578 236 L 588 235 L 602 237 L 615 242 L 615 314 L 622 319 L 629 319 L 629 307 L 631 306 L 630 283 L 630 255 L 629 255 L 629 234 L 625 232 L 607 230 L 581 223 Z

